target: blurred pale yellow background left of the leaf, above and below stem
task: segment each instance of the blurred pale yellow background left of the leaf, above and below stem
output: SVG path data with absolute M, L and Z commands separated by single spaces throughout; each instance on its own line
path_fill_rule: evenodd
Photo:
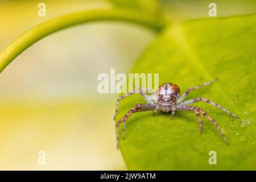
M 0 49 L 36 24 L 106 1 L 0 1 Z M 97 22 L 56 32 L 0 75 L 0 169 L 126 169 L 115 148 L 117 94 L 98 94 L 97 75 L 128 72 L 154 38 L 133 24 Z M 46 165 L 38 152 L 46 152 Z

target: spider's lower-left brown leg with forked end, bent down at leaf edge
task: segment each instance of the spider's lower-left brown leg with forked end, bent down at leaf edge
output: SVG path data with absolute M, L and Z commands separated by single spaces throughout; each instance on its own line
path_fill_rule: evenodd
M 116 124 L 115 124 L 115 133 L 117 134 L 117 149 L 118 149 L 118 143 L 119 143 L 119 131 L 118 127 L 123 122 L 123 139 L 125 139 L 125 123 L 127 119 L 130 117 L 131 114 L 141 112 L 141 111 L 148 111 L 155 108 L 155 104 L 137 104 L 125 114 L 123 118 L 121 118 Z

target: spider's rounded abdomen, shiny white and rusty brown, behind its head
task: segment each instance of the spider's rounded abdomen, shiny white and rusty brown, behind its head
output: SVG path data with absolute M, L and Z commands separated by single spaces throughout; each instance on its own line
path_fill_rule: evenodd
M 172 84 L 172 83 L 166 83 L 163 85 L 160 85 L 158 90 L 156 91 L 159 98 L 165 98 L 168 97 L 170 100 L 175 100 L 179 97 L 180 89 L 179 86 Z

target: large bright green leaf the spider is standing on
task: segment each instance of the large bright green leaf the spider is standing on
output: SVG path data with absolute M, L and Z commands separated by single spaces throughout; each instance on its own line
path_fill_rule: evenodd
M 226 145 L 212 123 L 201 115 L 204 131 L 193 111 L 135 113 L 126 122 L 126 139 L 119 146 L 127 168 L 143 169 L 255 169 L 256 15 L 192 20 L 167 28 L 139 58 L 131 72 L 159 73 L 159 84 L 174 82 L 181 93 L 218 77 L 213 85 L 193 90 L 186 100 L 205 97 L 240 119 L 207 103 L 201 107 L 217 121 L 229 140 Z M 117 121 L 135 104 L 139 94 L 121 101 Z M 121 135 L 122 126 L 119 126 Z M 209 151 L 217 152 L 210 165 Z

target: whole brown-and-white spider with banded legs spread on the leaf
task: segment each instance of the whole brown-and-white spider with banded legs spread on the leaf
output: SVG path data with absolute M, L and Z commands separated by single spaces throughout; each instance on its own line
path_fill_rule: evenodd
M 119 102 L 123 98 L 128 97 L 134 93 L 140 93 L 143 96 L 144 100 L 146 100 L 147 103 L 146 104 L 137 104 L 137 105 L 131 107 L 131 109 L 125 114 L 125 116 L 123 118 L 121 118 L 116 123 L 115 131 L 117 134 L 117 148 L 118 148 L 118 141 L 119 141 L 118 126 L 123 122 L 123 139 L 125 139 L 125 123 L 126 123 L 127 119 L 130 117 L 130 115 L 132 113 L 148 111 L 148 110 L 154 110 L 153 115 L 158 110 L 163 111 L 164 113 L 168 113 L 171 111 L 171 119 L 172 119 L 172 117 L 174 117 L 175 111 L 179 111 L 179 110 L 194 111 L 197 116 L 197 120 L 199 121 L 199 124 L 200 124 L 200 133 L 202 133 L 202 131 L 203 131 L 203 122 L 200 117 L 200 113 L 201 113 L 204 115 L 205 118 L 207 118 L 210 122 L 213 123 L 213 125 L 215 125 L 217 127 L 218 131 L 220 131 L 222 138 L 224 139 L 226 144 L 228 144 L 228 140 L 224 136 L 224 133 L 222 132 L 220 126 L 218 126 L 218 123 L 216 121 L 214 121 L 214 119 L 209 117 L 209 115 L 203 109 L 200 109 L 200 108 L 194 107 L 194 106 L 189 106 L 189 105 L 193 104 L 195 102 L 204 101 L 210 105 L 213 105 L 215 107 L 218 107 L 219 109 L 224 110 L 226 113 L 232 115 L 233 117 L 238 118 L 236 115 L 230 113 L 230 111 L 226 110 L 224 107 L 222 107 L 218 104 L 215 104 L 214 102 L 209 101 L 208 99 L 203 98 L 203 97 L 193 98 L 191 100 L 184 101 L 185 97 L 188 95 L 189 92 L 191 92 L 191 90 L 200 89 L 203 86 L 212 84 L 216 80 L 217 80 L 217 78 L 210 82 L 206 82 L 202 85 L 193 86 L 193 87 L 189 88 L 181 97 L 180 97 L 179 87 L 172 83 L 166 83 L 166 84 L 160 85 L 159 88 L 156 90 L 156 96 L 153 94 L 152 90 L 147 89 L 147 92 L 150 93 L 150 95 L 147 95 L 146 92 L 144 92 L 142 89 L 137 89 L 137 90 L 131 91 L 130 93 L 123 94 L 123 96 L 118 97 L 116 108 L 115 108 L 114 120 L 115 120 L 115 116 L 117 114 Z

